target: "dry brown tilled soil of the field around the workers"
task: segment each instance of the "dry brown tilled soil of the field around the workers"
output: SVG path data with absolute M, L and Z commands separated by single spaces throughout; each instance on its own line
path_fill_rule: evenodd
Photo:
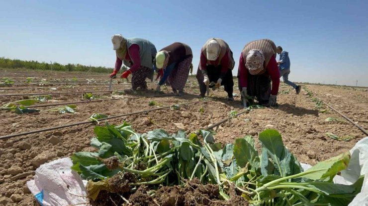
M 34 81 L 46 78 L 47 81 L 60 79 L 67 81 L 76 77 L 78 81 L 94 79 L 96 81 L 108 81 L 107 74 L 66 73 L 66 72 L 37 72 L 21 70 L 0 69 L 2 77 L 10 77 L 14 80 L 25 81 L 26 77 L 38 77 Z M 73 81 L 73 80 L 72 80 Z M 190 77 L 185 88 L 187 94 L 184 97 L 169 96 L 155 98 L 139 98 L 128 101 L 108 101 L 113 98 L 126 98 L 127 95 L 113 95 L 110 93 L 93 93 L 100 95 L 103 102 L 81 103 L 78 105 L 78 113 L 58 114 L 57 112 L 40 112 L 37 114 L 16 114 L 14 112 L 0 110 L 0 136 L 49 128 L 80 121 L 86 121 L 92 113 L 106 115 L 118 115 L 136 111 L 156 108 L 150 106 L 150 101 L 156 101 L 161 106 L 178 103 L 198 101 L 199 89 L 195 77 Z M 153 92 L 155 86 L 149 82 L 151 90 L 142 92 L 143 96 L 157 95 Z M 125 87 L 123 87 L 126 85 Z M 127 89 L 129 84 L 122 83 L 113 85 L 113 90 Z M 64 88 L 65 85 L 12 85 L 0 86 L 0 95 L 4 94 L 29 94 L 29 93 L 57 93 L 79 91 L 105 91 L 108 83 L 80 83 L 73 88 Z M 94 88 L 95 87 L 95 88 Z M 331 86 L 306 85 L 318 97 L 326 103 L 341 111 L 353 121 L 368 129 L 368 92 L 365 89 L 339 88 Z M 32 88 L 32 90 L 6 90 L 9 88 Z M 38 88 L 38 89 L 36 89 Z M 43 88 L 43 89 L 40 89 Z M 56 88 L 57 90 L 50 90 Z M 220 143 L 234 142 L 236 138 L 251 134 L 258 136 L 266 128 L 277 129 L 286 147 L 298 158 L 300 162 L 316 164 L 318 161 L 336 156 L 349 151 L 365 135 L 350 122 L 326 122 L 328 117 L 344 120 L 342 116 L 328 109 L 328 113 L 319 113 L 315 109 L 306 92 L 302 90 L 299 95 L 284 84 L 280 85 L 277 103 L 274 108 L 254 109 L 249 113 L 241 114 L 237 118 L 222 124 L 217 129 L 216 141 Z M 282 91 L 289 91 L 287 92 Z M 164 90 L 170 93 L 168 87 Z M 213 93 L 213 100 L 208 102 L 193 103 L 181 106 L 180 110 L 170 108 L 150 111 L 125 117 L 111 119 L 110 124 L 120 124 L 127 121 L 132 124 L 139 133 L 163 128 L 169 133 L 184 129 L 187 133 L 214 124 L 221 119 L 227 118 L 231 110 L 241 111 L 240 97 L 235 97 L 234 102 L 226 101 L 226 93 L 223 88 Z M 237 83 L 234 85 L 234 93 L 237 91 Z M 46 103 L 64 103 L 86 101 L 82 94 L 53 95 L 52 100 Z M 130 96 L 129 96 L 130 97 Z M 27 99 L 29 96 L 0 97 L 1 105 L 17 100 Z M 37 103 L 38 104 L 38 103 Z M 52 107 L 40 107 L 46 110 Z M 200 110 L 203 108 L 204 112 Z M 326 106 L 327 108 L 327 106 Z M 103 123 L 101 123 L 103 124 Z M 26 181 L 32 179 L 35 169 L 42 163 L 57 158 L 70 156 L 74 152 L 91 150 L 90 140 L 93 137 L 93 126 L 88 123 L 64 129 L 41 132 L 7 140 L 0 140 L 0 205 L 34 205 L 33 196 L 26 187 Z M 329 138 L 325 133 L 331 132 L 337 136 L 352 135 L 355 139 L 344 142 Z M 256 138 L 256 144 L 259 142 Z

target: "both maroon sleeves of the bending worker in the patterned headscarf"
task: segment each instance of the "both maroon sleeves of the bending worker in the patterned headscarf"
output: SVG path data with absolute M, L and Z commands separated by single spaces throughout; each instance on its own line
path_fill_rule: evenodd
M 251 75 L 249 74 L 247 67 L 245 67 L 245 63 L 246 61 L 243 58 L 243 53 L 241 53 L 240 59 L 239 59 L 239 83 L 240 83 L 240 87 L 242 88 L 247 87 L 248 75 Z M 277 95 L 278 86 L 280 84 L 280 78 L 279 78 L 280 73 L 278 71 L 275 55 L 271 57 L 269 63 L 267 64 L 266 69 L 267 69 L 268 74 L 271 76 L 271 80 L 272 80 L 271 94 Z

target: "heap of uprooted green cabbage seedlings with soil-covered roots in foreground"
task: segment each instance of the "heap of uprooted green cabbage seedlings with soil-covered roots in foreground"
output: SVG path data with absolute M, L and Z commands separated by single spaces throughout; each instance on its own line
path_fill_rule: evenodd
M 274 129 L 259 134 L 261 154 L 249 135 L 221 147 L 214 142 L 214 132 L 207 130 L 169 135 L 155 129 L 138 134 L 124 122 L 96 126 L 94 133 L 91 146 L 98 152 L 78 152 L 71 157 L 72 169 L 89 180 L 87 190 L 92 200 L 107 191 L 128 202 L 125 198 L 141 185 L 148 186 L 154 197 L 160 187 L 184 186 L 186 180 L 196 178 L 201 184 L 217 185 L 218 199 L 225 201 L 240 195 L 256 206 L 344 206 L 363 184 L 363 176 L 353 185 L 332 182 L 348 166 L 349 152 L 303 171 Z M 116 184 L 116 179 L 125 182 Z M 232 188 L 237 193 L 231 192 Z

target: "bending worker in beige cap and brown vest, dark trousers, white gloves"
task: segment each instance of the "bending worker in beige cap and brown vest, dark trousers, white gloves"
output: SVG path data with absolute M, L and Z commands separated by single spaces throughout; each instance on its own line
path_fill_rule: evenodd
M 234 65 L 233 52 L 224 40 L 219 38 L 207 40 L 200 52 L 200 61 L 196 74 L 200 97 L 204 97 L 206 85 L 210 85 L 209 87 L 213 88 L 213 83 L 215 83 L 213 90 L 223 85 L 228 95 L 227 100 L 234 101 L 232 73 Z

